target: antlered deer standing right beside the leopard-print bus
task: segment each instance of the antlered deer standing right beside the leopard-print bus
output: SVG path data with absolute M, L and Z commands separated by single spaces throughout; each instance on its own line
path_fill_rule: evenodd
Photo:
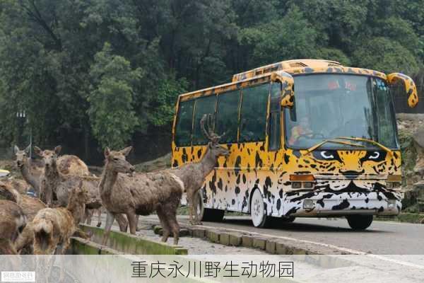
M 205 127 L 205 122 L 207 122 L 207 129 Z M 184 164 L 170 170 L 171 173 L 174 173 L 184 183 L 184 187 L 187 192 L 187 202 L 189 204 L 189 221 L 193 225 L 201 224 L 201 221 L 195 211 L 196 204 L 199 202 L 199 194 L 197 192 L 201 189 L 201 186 L 205 182 L 206 176 L 213 171 L 213 168 L 215 168 L 218 157 L 228 156 L 229 154 L 228 149 L 218 144 L 220 138 L 223 137 L 225 133 L 220 136 L 214 133 L 212 130 L 212 122 L 213 117 L 210 114 L 205 114 L 200 120 L 200 127 L 206 138 L 209 140 L 208 147 L 201 160 L 198 162 Z

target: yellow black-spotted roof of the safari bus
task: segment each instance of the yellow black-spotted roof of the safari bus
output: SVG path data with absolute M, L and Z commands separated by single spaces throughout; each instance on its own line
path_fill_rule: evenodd
M 199 96 L 208 96 L 213 93 L 223 93 L 225 91 L 236 90 L 237 88 L 249 86 L 251 84 L 263 83 L 269 81 L 271 74 L 276 71 L 283 71 L 291 75 L 312 73 L 360 74 L 365 76 L 377 76 L 384 80 L 386 79 L 386 75 L 382 72 L 346 67 L 336 61 L 323 59 L 295 59 L 281 61 L 235 74 L 232 76 L 232 81 L 230 83 L 224 83 L 219 86 L 211 86 L 198 91 L 183 93 L 180 95 L 180 98 L 184 101 L 197 98 Z

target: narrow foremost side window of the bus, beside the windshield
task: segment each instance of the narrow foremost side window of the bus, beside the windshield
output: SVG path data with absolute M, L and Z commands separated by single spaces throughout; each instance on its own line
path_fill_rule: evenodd
M 269 150 L 276 151 L 281 146 L 281 83 L 271 85 L 271 105 L 269 115 Z

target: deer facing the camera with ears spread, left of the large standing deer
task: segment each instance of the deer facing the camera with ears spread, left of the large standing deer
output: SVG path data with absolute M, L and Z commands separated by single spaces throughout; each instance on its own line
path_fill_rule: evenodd
M 40 177 L 40 199 L 51 207 L 54 199 L 61 207 L 66 207 L 69 200 L 69 192 L 77 187 L 80 181 L 88 191 L 86 209 L 100 209 L 102 200 L 98 190 L 99 178 L 81 175 L 64 175 L 57 168 L 57 158 L 61 151 L 61 146 L 56 146 L 54 150 L 42 151 L 37 146 L 34 147 L 35 154 L 42 157 L 45 164 L 44 174 Z M 85 215 L 89 215 L 86 212 Z M 86 219 L 84 216 L 83 219 Z M 122 215 L 116 217 L 121 231 L 126 231 L 127 221 Z

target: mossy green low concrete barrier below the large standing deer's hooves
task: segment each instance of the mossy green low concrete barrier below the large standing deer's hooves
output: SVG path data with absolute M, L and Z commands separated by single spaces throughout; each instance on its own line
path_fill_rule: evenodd
M 102 243 L 104 229 L 100 229 L 94 226 L 88 226 L 80 224 L 81 229 L 88 234 L 92 234 L 91 241 L 94 243 Z M 79 245 L 79 243 L 76 243 Z M 100 245 L 99 245 L 100 246 Z M 140 236 L 134 236 L 129 233 L 122 233 L 119 231 L 110 231 L 109 238 L 107 240 L 107 247 L 112 250 L 117 250 L 120 253 L 126 253 L 131 255 L 187 255 L 187 248 L 182 246 L 170 245 L 167 243 L 158 243 L 155 241 L 141 238 Z M 100 246 L 101 248 L 101 246 Z M 92 254 L 91 248 L 86 248 L 87 254 Z

